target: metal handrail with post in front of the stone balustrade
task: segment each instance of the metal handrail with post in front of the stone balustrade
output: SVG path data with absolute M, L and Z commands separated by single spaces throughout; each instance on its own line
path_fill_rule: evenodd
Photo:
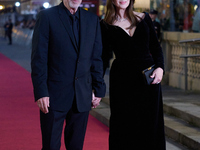
M 186 44 L 200 44 L 200 38 L 198 39 L 189 39 L 189 40 L 182 40 L 179 41 L 180 44 L 186 43 Z M 185 47 L 187 49 L 187 46 Z M 187 52 L 187 50 L 186 50 Z M 200 54 L 196 54 L 196 55 L 181 55 L 180 58 L 184 58 L 184 71 L 185 71 L 185 91 L 187 91 L 188 89 L 188 58 L 192 58 L 192 57 L 200 57 Z

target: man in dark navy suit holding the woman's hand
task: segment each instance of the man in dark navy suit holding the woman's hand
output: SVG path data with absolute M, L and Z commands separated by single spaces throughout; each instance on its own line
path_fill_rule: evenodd
M 63 0 L 41 11 L 32 43 L 32 82 L 40 108 L 43 150 L 82 150 L 91 106 L 105 95 L 99 19 Z M 94 97 L 92 98 L 92 91 Z

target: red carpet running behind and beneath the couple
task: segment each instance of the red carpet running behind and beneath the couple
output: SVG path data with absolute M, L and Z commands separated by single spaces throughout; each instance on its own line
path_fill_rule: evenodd
M 39 109 L 34 103 L 30 73 L 0 54 L 0 150 L 40 149 Z M 108 150 L 108 127 L 92 116 L 84 150 Z

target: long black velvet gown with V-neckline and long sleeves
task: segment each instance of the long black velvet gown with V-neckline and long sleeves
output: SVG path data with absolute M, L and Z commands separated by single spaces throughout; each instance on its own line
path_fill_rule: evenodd
M 164 70 L 163 53 L 148 13 L 134 35 L 101 21 L 103 61 L 110 51 L 110 150 L 165 150 L 161 85 L 145 85 L 142 70 L 155 64 Z

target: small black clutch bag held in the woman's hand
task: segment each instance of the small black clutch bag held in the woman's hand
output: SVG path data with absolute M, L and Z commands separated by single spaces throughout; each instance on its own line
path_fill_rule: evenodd
M 155 65 L 152 65 L 151 67 L 145 69 L 142 71 L 142 74 L 144 76 L 144 82 L 147 84 L 147 85 L 150 85 L 154 78 L 151 78 L 150 76 L 153 74 L 153 71 L 155 70 Z

